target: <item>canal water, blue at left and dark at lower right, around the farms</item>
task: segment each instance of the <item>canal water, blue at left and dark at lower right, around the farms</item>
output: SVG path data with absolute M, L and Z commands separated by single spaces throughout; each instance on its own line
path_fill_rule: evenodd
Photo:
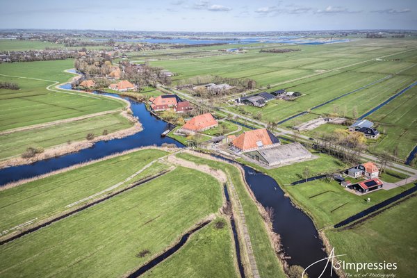
M 118 95 L 113 96 L 120 97 Z M 161 138 L 161 133 L 170 128 L 170 126 L 149 113 L 145 104 L 129 97 L 124 97 L 124 99 L 131 102 L 133 115 L 139 118 L 143 126 L 143 131 L 122 139 L 100 141 L 88 149 L 82 149 L 73 154 L 38 161 L 30 165 L 1 169 L 0 186 L 10 181 L 35 177 L 77 163 L 102 158 L 137 147 L 149 145 L 160 146 L 163 143 L 171 143 L 178 147 L 183 147 L 181 143 L 172 138 Z M 322 243 L 318 238 L 318 232 L 313 222 L 302 211 L 292 206 L 290 199 L 284 197 L 284 192 L 279 188 L 277 182 L 271 177 L 261 172 L 256 172 L 250 167 L 244 166 L 244 170 L 247 183 L 256 196 L 256 199 L 264 207 L 269 206 L 274 208 L 275 219 L 273 228 L 281 235 L 281 241 L 286 255 L 291 256 L 291 259 L 288 259 L 288 263 L 291 265 L 302 265 L 302 267 L 306 268 L 311 263 L 325 258 L 327 255 L 322 251 Z M 320 276 L 324 268 L 325 263 L 318 263 L 314 267 L 309 268 L 309 277 Z M 322 277 L 330 277 L 329 267 Z M 336 277 L 336 274 L 333 273 L 332 277 Z

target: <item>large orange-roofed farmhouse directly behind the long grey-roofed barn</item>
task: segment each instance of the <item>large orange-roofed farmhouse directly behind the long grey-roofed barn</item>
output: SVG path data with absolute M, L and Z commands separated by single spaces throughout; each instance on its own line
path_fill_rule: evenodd
M 254 129 L 245 131 L 231 141 L 230 147 L 236 152 L 251 152 L 265 147 L 274 147 L 281 144 L 268 129 Z

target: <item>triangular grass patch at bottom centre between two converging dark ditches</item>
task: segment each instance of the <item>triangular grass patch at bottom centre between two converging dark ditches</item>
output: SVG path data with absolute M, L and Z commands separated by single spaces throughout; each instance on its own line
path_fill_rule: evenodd
M 218 221 L 224 222 L 222 229 L 215 227 Z M 143 277 L 238 277 L 238 270 L 234 269 L 236 252 L 232 240 L 229 222 L 217 218 L 191 236 L 181 250 L 145 272 Z

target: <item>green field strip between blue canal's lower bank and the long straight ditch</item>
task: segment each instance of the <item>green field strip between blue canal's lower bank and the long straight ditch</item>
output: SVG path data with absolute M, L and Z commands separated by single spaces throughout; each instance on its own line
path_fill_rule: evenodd
M 68 204 L 124 181 L 165 154 L 158 149 L 144 149 L 0 191 L 0 231 L 65 211 Z

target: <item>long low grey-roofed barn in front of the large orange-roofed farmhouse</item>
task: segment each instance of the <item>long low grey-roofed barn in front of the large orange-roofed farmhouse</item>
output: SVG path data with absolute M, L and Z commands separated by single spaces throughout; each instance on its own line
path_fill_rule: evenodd
M 247 152 L 245 155 L 269 167 L 304 161 L 312 156 L 311 152 L 299 142 L 258 149 L 254 152 Z

